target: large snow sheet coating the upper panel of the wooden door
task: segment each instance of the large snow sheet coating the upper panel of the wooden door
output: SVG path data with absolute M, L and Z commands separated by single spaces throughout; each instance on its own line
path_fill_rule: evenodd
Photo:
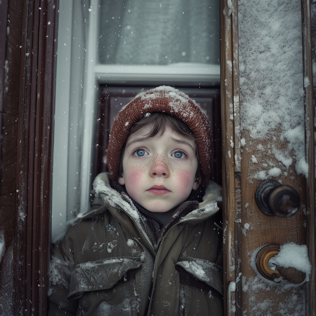
M 302 72 L 301 3 L 238 4 L 241 131 L 257 141 L 276 133 L 268 148 L 283 166 L 273 167 L 284 172 L 295 160 L 297 173 L 307 176 L 303 84 L 310 83 Z M 286 145 L 282 155 L 279 143 Z M 260 171 L 255 179 L 262 179 Z

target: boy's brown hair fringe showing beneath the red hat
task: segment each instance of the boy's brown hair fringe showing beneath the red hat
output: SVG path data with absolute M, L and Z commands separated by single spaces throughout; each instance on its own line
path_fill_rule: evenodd
M 184 136 L 187 139 L 190 139 L 194 142 L 194 152 L 195 152 L 195 156 L 197 158 L 197 164 L 198 164 L 196 176 L 198 179 L 201 175 L 200 159 L 199 159 L 198 150 L 197 150 L 197 140 L 193 132 L 181 120 L 177 119 L 175 116 L 172 116 L 168 113 L 157 112 L 157 113 L 148 113 L 148 114 L 149 115 L 144 116 L 142 119 L 134 123 L 134 125 L 131 127 L 131 130 L 127 138 L 130 135 L 134 134 L 135 132 L 139 131 L 145 125 L 152 125 L 152 130 L 148 134 L 145 135 L 146 137 L 150 137 L 150 138 L 155 137 L 156 135 L 158 135 L 158 137 L 161 137 L 163 133 L 165 132 L 166 127 L 167 126 L 171 127 L 171 129 L 175 133 L 181 136 Z M 123 173 L 122 157 L 124 156 L 125 146 L 126 146 L 126 141 L 122 147 L 121 158 L 119 160 L 119 173 L 118 173 L 119 176 L 121 176 Z

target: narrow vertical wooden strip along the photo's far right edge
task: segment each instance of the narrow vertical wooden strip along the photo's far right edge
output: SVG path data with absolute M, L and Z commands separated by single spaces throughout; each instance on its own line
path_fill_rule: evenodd
M 306 222 L 307 247 L 312 271 L 309 283 L 309 315 L 316 314 L 316 231 L 315 231 L 315 143 L 313 104 L 313 68 L 312 68 L 312 26 L 309 0 L 301 0 L 302 4 L 302 43 L 303 43 L 303 80 L 304 80 L 304 112 L 305 112 L 305 159 L 308 162 L 308 179 L 306 190 Z M 305 84 L 308 78 L 309 84 Z

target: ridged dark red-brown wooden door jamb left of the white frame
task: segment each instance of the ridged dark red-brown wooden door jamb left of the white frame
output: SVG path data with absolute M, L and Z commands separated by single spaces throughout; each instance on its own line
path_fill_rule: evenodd
M 56 11 L 52 0 L 23 6 L 14 280 L 19 315 L 47 313 Z

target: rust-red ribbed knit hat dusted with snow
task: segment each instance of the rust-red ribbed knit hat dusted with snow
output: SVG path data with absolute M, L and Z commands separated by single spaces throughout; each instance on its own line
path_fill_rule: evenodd
M 138 94 L 117 115 L 106 151 L 106 163 L 112 181 L 117 180 L 122 147 L 132 125 L 147 113 L 165 112 L 180 119 L 193 132 L 197 140 L 202 183 L 210 178 L 211 130 L 210 123 L 201 108 L 178 89 L 161 86 Z

